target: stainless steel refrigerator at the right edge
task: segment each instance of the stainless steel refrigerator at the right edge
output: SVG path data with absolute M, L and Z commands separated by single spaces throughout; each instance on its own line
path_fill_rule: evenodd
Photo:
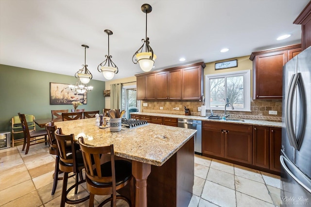
M 311 47 L 283 67 L 282 106 L 281 206 L 311 207 Z

